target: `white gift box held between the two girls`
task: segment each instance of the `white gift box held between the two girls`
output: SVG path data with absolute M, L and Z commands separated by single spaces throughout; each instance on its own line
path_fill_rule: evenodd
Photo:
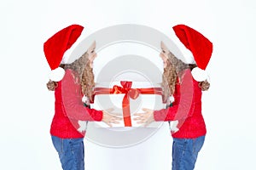
M 96 88 L 113 88 L 114 85 L 121 87 L 120 82 L 105 82 L 97 83 Z M 160 84 L 153 84 L 151 82 L 132 82 L 131 89 L 135 88 L 160 88 Z M 91 108 L 96 110 L 113 109 L 111 113 L 115 116 L 123 118 L 122 101 L 125 94 L 97 94 Z M 148 108 L 154 111 L 166 108 L 166 104 L 162 102 L 162 95 L 160 94 L 139 94 L 137 99 L 130 100 L 130 115 L 131 127 L 144 127 L 144 124 L 137 123 L 133 119 L 135 113 L 143 113 L 143 108 Z M 161 122 L 152 122 L 147 127 L 159 127 Z M 104 122 L 95 122 L 97 127 L 108 127 Z M 125 127 L 125 122 L 120 121 L 119 124 L 112 124 L 113 127 Z

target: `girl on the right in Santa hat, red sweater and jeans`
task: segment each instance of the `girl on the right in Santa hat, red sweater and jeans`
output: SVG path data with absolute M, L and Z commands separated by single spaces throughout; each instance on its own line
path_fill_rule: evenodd
M 192 31 L 196 41 L 201 38 L 201 34 L 195 30 L 191 30 L 188 26 L 182 25 L 174 28 L 183 30 L 183 33 Z M 177 30 L 175 31 L 177 33 Z M 193 46 L 195 43 L 190 33 L 191 32 L 185 35 L 182 34 L 182 36 L 181 34 L 177 34 L 177 36 L 179 38 L 188 37 L 186 40 L 190 41 L 190 43 L 183 42 L 182 38 L 181 41 L 184 44 Z M 210 53 L 203 52 L 200 56 L 209 59 L 212 54 L 212 42 L 209 42 L 205 37 L 202 39 L 204 40 L 203 43 L 207 43 L 207 48 L 209 48 L 207 50 L 209 50 Z M 200 44 L 201 43 L 196 43 L 198 46 L 200 46 Z M 204 47 L 203 45 L 201 46 L 201 48 Z M 198 63 L 201 65 L 200 62 L 196 62 L 197 65 L 185 64 L 182 60 L 177 59 L 174 54 L 166 48 L 163 42 L 161 42 L 161 48 L 160 57 L 164 61 L 162 87 L 166 99 L 168 99 L 168 96 L 173 96 L 174 102 L 167 109 L 160 111 L 143 109 L 143 111 L 145 111 L 144 114 L 137 114 L 138 117 L 136 120 L 146 123 L 146 125 L 154 121 L 178 121 L 177 127 L 171 128 L 173 137 L 172 170 L 193 170 L 207 133 L 206 124 L 201 114 L 201 91 L 207 90 L 210 87 L 210 83 L 207 82 L 206 77 L 203 78 L 203 80 L 199 80 L 200 78 L 198 79 L 198 76 L 192 76 L 193 69 L 195 69 Z M 195 48 L 193 50 L 195 50 Z M 193 52 L 196 58 L 197 52 Z M 197 60 L 196 58 L 195 61 Z

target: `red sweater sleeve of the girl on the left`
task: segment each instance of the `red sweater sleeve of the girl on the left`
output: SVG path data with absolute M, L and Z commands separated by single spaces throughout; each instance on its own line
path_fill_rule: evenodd
M 102 121 L 102 111 L 85 107 L 82 102 L 81 86 L 71 70 L 67 70 L 61 81 L 62 102 L 68 117 L 81 121 Z

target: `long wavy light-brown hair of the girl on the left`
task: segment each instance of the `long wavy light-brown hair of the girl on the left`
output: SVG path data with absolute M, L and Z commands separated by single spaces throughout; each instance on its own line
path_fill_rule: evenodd
M 85 52 L 79 59 L 73 61 L 73 63 L 65 65 L 61 64 L 60 67 L 62 67 L 65 71 L 67 69 L 75 71 L 76 74 L 73 76 L 80 80 L 79 83 L 81 85 L 82 93 L 88 98 L 92 99 L 95 82 L 94 74 L 92 68 L 90 67 L 89 54 Z M 58 82 L 49 80 L 46 85 L 49 90 L 54 91 L 58 86 Z

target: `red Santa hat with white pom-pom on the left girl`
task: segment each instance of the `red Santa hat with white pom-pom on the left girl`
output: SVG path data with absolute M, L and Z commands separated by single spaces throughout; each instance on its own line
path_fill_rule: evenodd
M 79 25 L 67 26 L 44 42 L 44 54 L 51 69 L 50 80 L 59 82 L 64 77 L 65 71 L 59 65 L 65 64 L 61 62 L 65 52 L 77 41 L 83 29 Z

